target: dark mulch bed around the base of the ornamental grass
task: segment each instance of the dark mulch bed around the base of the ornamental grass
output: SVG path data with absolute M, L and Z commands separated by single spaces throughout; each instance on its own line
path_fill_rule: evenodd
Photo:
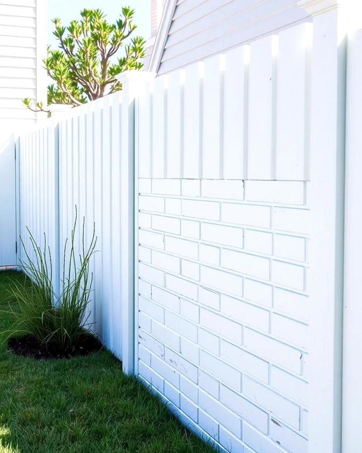
M 84 334 L 84 337 L 75 347 L 64 351 L 59 350 L 59 348 L 52 344 L 41 344 L 32 335 L 26 335 L 19 338 L 10 338 L 8 347 L 16 355 L 42 360 L 88 355 L 92 352 L 100 351 L 103 348 L 103 345 L 93 335 Z

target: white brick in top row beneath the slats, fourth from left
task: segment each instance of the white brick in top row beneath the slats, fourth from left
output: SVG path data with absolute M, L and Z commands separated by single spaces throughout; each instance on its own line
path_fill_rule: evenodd
M 244 181 L 240 179 L 202 179 L 201 193 L 207 198 L 242 200 Z

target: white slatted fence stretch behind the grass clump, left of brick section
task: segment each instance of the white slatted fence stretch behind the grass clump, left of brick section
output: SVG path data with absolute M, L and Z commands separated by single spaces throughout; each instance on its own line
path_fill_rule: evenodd
M 76 250 L 80 251 L 82 222 L 85 244 L 95 225 L 97 252 L 92 260 L 94 291 L 89 307 L 95 331 L 106 346 L 122 357 L 122 228 L 127 212 L 122 204 L 122 180 L 133 187 L 133 174 L 121 166 L 122 98 L 115 94 L 72 111 L 58 124 L 37 128 L 19 139 L 20 235 L 31 251 L 29 235 L 50 246 L 54 285 L 61 288 L 63 248 L 75 220 Z M 126 179 L 127 178 L 127 179 Z M 20 257 L 25 259 L 24 250 Z

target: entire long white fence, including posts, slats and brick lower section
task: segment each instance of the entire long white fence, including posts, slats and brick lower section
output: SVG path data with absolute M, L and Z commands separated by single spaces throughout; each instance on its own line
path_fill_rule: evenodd
M 45 232 L 57 285 L 74 206 L 87 240 L 95 223 L 95 330 L 224 451 L 340 451 L 336 15 L 154 79 L 131 71 L 122 96 L 18 141 L 20 234 Z

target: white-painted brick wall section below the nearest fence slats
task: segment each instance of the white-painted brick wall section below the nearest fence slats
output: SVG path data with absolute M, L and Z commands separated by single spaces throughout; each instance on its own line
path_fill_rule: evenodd
M 307 452 L 307 186 L 139 179 L 138 373 L 227 451 Z

